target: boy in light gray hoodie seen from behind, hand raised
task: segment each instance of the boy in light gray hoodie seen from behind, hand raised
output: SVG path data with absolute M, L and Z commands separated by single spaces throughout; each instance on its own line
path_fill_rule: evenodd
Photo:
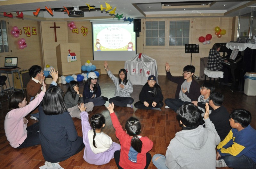
M 215 168 L 216 145 L 220 137 L 209 119 L 209 105 L 205 105 L 205 128 L 201 121 L 201 110 L 195 105 L 184 104 L 177 111 L 177 117 L 183 130 L 175 134 L 167 147 L 166 157 L 156 154 L 152 158 L 158 169 L 179 168 Z M 204 162 L 202 162 L 202 159 Z

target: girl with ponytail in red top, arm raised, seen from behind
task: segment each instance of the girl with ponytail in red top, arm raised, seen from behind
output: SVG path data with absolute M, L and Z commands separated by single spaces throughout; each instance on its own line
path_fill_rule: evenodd
M 125 131 L 114 113 L 114 104 L 108 105 L 108 110 L 116 129 L 116 137 L 121 144 L 121 151 L 116 151 L 114 158 L 117 167 L 120 168 L 148 168 L 151 155 L 148 153 L 153 147 L 153 142 L 148 137 L 140 136 L 140 121 L 130 117 L 125 123 Z

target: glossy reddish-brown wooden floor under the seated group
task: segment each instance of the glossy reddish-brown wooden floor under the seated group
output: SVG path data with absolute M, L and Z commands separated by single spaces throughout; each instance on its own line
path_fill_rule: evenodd
M 162 88 L 164 99 L 174 98 L 177 85 L 168 81 L 165 76 L 159 76 L 159 85 Z M 102 95 L 108 98 L 114 96 L 115 86 L 111 79 L 105 75 L 100 75 L 98 80 L 100 88 L 102 90 Z M 202 81 L 199 81 L 202 84 Z M 63 85 L 59 84 L 64 92 L 67 91 L 68 84 Z M 234 91 L 231 92 L 227 86 L 218 86 L 216 82 L 216 91 L 224 94 L 224 103 L 223 105 L 231 112 L 233 109 L 243 108 L 247 109 L 252 113 L 252 127 L 255 129 L 256 125 L 256 96 L 247 96 L 243 92 Z M 138 101 L 138 95 L 142 86 L 134 85 L 132 97 L 134 102 Z M 83 91 L 83 82 L 80 82 L 79 91 Z M 0 101 L 4 100 L 6 96 L 0 96 Z M 106 105 L 108 102 L 106 103 Z M 0 109 L 0 168 L 38 168 L 44 165 L 44 157 L 42 155 L 41 146 L 33 146 L 28 148 L 12 148 L 7 141 L 4 133 L 4 118 L 8 111 L 8 101 L 2 102 L 3 108 Z M 164 105 L 165 106 L 165 105 Z M 115 112 L 120 123 L 124 126 L 125 121 L 130 116 L 135 116 L 140 120 L 142 125 L 141 135 L 147 136 L 154 143 L 150 154 L 153 156 L 156 153 L 165 154 L 167 146 L 170 143 L 170 140 L 175 136 L 175 133 L 181 130 L 180 124 L 176 119 L 176 114 L 171 109 L 165 109 L 162 107 L 162 111 L 157 110 L 140 110 L 136 108 L 124 108 L 124 107 L 115 107 Z M 108 110 L 105 106 L 96 106 L 90 112 L 90 117 L 95 113 L 101 113 L 106 118 L 105 128 L 102 130 L 107 133 L 113 140 L 113 142 L 119 143 L 115 135 L 115 130 L 112 126 L 112 122 L 108 113 Z M 30 115 L 26 116 L 31 125 L 36 123 L 35 120 L 29 118 Z M 73 118 L 73 121 L 76 126 L 78 136 L 82 137 L 82 128 L 81 120 Z M 65 169 L 71 168 L 104 168 L 104 169 L 116 169 L 115 160 L 112 159 L 106 165 L 90 165 L 83 159 L 84 151 L 79 152 L 78 154 L 68 158 L 65 161 L 60 162 L 60 166 Z M 149 165 L 149 168 L 156 168 L 152 162 Z M 225 167 L 228 168 L 228 167 Z

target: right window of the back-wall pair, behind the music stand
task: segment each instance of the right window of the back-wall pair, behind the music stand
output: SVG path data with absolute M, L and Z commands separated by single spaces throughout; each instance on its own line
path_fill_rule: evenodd
M 184 46 L 189 43 L 190 21 L 170 21 L 169 46 Z

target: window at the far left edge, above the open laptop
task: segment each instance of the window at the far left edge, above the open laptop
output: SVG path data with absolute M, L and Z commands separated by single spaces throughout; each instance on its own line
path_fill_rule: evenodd
M 6 23 L 5 18 L 0 18 L 0 54 L 9 53 Z

